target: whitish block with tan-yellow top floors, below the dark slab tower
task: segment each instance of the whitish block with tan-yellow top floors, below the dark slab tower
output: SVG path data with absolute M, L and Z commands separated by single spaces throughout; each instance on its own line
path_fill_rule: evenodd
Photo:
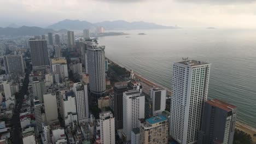
M 50 59 L 51 72 L 59 73 L 61 80 L 68 77 L 68 68 L 66 58 L 51 58 Z

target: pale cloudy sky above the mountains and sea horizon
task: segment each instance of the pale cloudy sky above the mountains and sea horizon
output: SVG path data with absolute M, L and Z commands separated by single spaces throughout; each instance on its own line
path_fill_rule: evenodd
M 0 27 L 46 27 L 64 19 L 256 29 L 256 0 L 0 0 Z

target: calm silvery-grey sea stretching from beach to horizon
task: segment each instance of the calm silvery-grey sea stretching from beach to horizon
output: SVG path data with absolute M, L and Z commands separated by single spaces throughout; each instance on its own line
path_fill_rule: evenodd
M 182 57 L 211 63 L 208 98 L 237 106 L 238 121 L 256 128 L 256 30 L 158 29 L 101 37 L 106 56 L 171 88 L 173 62 Z M 138 35 L 146 33 L 146 35 Z

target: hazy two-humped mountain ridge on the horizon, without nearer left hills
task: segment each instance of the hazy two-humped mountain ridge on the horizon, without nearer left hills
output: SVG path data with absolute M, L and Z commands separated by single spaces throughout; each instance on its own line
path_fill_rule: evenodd
M 167 29 L 167 28 L 177 28 L 172 26 L 161 26 L 155 23 L 150 22 L 127 22 L 123 20 L 118 21 L 103 21 L 97 23 L 90 23 L 88 21 L 79 21 L 79 20 L 63 20 L 53 25 L 48 26 L 47 28 L 53 29 L 72 29 L 72 30 L 82 30 L 85 28 L 95 28 L 98 26 L 104 27 L 104 29 Z

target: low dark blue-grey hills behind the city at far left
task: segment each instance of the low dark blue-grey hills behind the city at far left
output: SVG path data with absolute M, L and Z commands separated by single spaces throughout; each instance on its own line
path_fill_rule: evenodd
M 62 32 L 67 32 L 67 30 L 61 30 Z M 22 26 L 19 28 L 12 28 L 12 27 L 0 27 L 0 34 L 1 35 L 42 35 L 47 33 L 58 33 L 59 31 L 55 31 L 54 29 L 49 28 L 41 28 L 41 27 L 27 27 Z

